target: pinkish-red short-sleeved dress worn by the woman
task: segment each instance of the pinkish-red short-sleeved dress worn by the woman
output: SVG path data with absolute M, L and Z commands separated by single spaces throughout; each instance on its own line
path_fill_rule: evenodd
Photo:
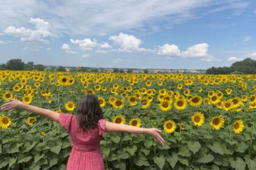
M 59 123 L 71 136 L 72 149 L 66 165 L 67 170 L 105 170 L 100 148 L 102 134 L 105 132 L 105 120 L 98 121 L 98 127 L 80 131 L 76 116 L 60 114 Z

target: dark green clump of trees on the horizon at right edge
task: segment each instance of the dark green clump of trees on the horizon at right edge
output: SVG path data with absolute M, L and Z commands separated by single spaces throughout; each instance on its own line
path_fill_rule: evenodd
M 256 74 L 256 60 L 245 58 L 243 61 L 237 61 L 230 67 L 212 67 L 206 70 L 207 74 L 229 74 L 229 73 L 244 73 Z

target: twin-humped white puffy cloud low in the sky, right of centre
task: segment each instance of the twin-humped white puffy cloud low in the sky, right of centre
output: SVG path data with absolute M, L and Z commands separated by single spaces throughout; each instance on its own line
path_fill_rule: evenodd
M 208 54 L 207 43 L 195 44 L 184 52 L 180 52 L 179 47 L 175 44 L 165 44 L 158 47 L 159 55 L 179 56 L 182 58 L 201 58 L 203 61 L 213 61 L 214 56 Z

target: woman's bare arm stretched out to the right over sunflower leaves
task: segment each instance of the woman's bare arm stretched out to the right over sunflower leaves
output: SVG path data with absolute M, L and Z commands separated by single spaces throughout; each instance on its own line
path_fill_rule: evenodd
M 110 121 L 106 121 L 105 123 L 105 132 L 127 132 L 133 134 L 148 134 L 152 135 L 159 143 L 164 144 L 165 140 L 161 137 L 160 129 L 157 128 L 141 128 L 136 126 L 129 126 L 126 124 L 118 124 L 112 123 Z

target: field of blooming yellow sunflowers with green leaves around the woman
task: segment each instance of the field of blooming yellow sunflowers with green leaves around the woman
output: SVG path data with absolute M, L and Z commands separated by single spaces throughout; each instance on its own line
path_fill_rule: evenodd
M 76 114 L 95 94 L 104 118 L 157 127 L 165 145 L 144 134 L 103 135 L 106 169 L 256 169 L 256 75 L 0 71 L 8 98 Z M 0 114 L 0 169 L 65 169 L 71 139 L 60 124 L 13 110 Z

